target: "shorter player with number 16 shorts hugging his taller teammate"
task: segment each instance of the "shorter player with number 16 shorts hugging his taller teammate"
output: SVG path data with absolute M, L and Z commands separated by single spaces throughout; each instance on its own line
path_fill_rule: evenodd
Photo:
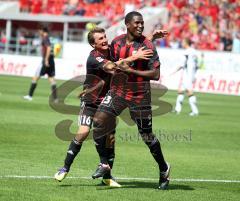
M 166 35 L 164 33 L 164 30 L 156 30 L 153 33 L 153 39 L 164 37 L 164 35 Z M 104 29 L 96 27 L 90 31 L 88 33 L 88 42 L 94 49 L 90 52 L 87 59 L 87 76 L 84 82 L 84 90 L 80 94 L 81 107 L 78 122 L 79 129 L 75 138 L 69 145 L 64 166 L 55 174 L 55 179 L 58 181 L 62 181 L 67 176 L 75 157 L 81 150 L 82 143 L 88 137 L 93 116 L 110 88 L 111 74 L 114 73 L 114 67 L 117 66 L 117 64 L 110 61 L 110 50 Z M 126 60 L 134 61 L 140 58 L 147 60 L 151 55 L 151 50 L 143 50 L 141 48 L 134 56 Z M 115 158 L 114 133 L 115 129 L 113 129 L 111 135 L 108 135 L 104 143 L 107 150 L 107 161 L 111 169 Z M 120 185 L 114 181 L 110 172 L 102 176 L 103 184 L 112 187 L 120 187 Z

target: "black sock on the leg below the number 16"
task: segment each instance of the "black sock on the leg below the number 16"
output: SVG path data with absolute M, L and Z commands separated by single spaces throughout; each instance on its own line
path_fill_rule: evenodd
M 73 139 L 72 142 L 70 143 L 68 151 L 67 151 L 67 156 L 64 161 L 64 167 L 67 169 L 67 171 L 70 170 L 73 160 L 79 153 L 81 147 L 82 147 L 82 143 L 79 143 L 75 139 Z

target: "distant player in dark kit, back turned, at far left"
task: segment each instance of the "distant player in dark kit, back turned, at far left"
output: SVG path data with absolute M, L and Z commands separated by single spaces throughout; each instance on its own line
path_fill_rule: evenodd
M 37 82 L 41 76 L 47 74 L 48 81 L 51 84 L 52 90 L 52 99 L 54 102 L 58 102 L 57 99 L 57 87 L 56 81 L 54 79 L 55 76 L 55 62 L 54 62 L 54 48 L 50 43 L 48 29 L 46 27 L 42 27 L 39 30 L 39 34 L 42 40 L 42 62 L 37 68 L 34 77 L 32 78 L 32 83 L 30 85 L 30 89 L 28 95 L 24 96 L 25 100 L 31 101 L 33 98 L 34 91 L 37 87 Z

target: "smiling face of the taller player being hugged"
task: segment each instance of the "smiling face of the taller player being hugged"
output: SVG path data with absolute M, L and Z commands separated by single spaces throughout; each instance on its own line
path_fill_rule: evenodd
M 142 36 L 144 30 L 144 21 L 142 16 L 134 16 L 132 20 L 127 24 L 127 29 L 128 32 L 136 38 Z

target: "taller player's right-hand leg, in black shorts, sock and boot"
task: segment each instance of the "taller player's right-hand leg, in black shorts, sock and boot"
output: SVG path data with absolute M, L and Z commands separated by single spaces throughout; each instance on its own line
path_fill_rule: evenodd
M 153 158 L 159 166 L 159 188 L 166 189 L 169 184 L 170 165 L 164 159 L 159 140 L 152 133 L 151 106 L 131 108 L 130 114 L 131 118 L 137 124 L 139 134 L 141 135 L 144 143 L 148 146 Z

